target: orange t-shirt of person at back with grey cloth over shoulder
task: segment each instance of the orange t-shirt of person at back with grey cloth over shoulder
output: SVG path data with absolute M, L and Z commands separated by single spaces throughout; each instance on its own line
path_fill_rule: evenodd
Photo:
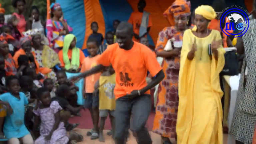
M 139 35 L 140 33 L 140 25 L 141 25 L 141 21 L 142 21 L 142 16 L 143 16 L 143 13 L 141 12 L 132 12 L 128 22 L 130 24 L 133 25 L 133 32 L 137 35 Z M 148 27 L 151 27 L 153 24 L 152 24 L 152 19 L 151 19 L 151 15 L 149 15 L 149 19 L 148 19 Z M 133 40 L 135 41 L 138 41 L 137 39 L 133 38 Z

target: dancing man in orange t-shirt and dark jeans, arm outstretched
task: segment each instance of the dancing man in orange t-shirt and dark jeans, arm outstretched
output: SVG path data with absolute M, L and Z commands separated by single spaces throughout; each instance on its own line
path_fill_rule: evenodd
M 151 144 L 146 121 L 151 111 L 150 89 L 164 78 L 164 73 L 154 53 L 143 44 L 134 42 L 133 27 L 121 22 L 116 30 L 117 43 L 103 52 L 98 65 L 71 78 L 77 80 L 101 72 L 105 66 L 112 64 L 116 72 L 115 109 L 115 143 L 123 144 L 127 140 L 128 125 L 132 115 L 132 129 L 137 143 Z M 147 70 L 156 76 L 152 82 L 146 83 Z

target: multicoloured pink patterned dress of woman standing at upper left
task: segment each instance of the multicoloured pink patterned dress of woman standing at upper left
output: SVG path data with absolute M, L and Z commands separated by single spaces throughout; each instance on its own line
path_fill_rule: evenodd
M 65 20 L 66 21 L 66 20 Z M 49 41 L 49 47 L 56 49 L 63 47 L 64 36 L 59 36 L 59 32 L 64 31 L 64 26 L 59 21 L 48 19 L 46 22 L 46 35 Z M 68 25 L 68 31 L 72 32 L 73 29 Z

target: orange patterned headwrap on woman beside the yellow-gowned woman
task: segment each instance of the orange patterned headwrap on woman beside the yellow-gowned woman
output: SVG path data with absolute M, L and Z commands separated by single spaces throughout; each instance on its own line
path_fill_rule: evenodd
M 175 25 L 174 18 L 180 15 L 190 16 L 190 1 L 187 0 L 176 0 L 172 5 L 163 13 L 171 25 Z

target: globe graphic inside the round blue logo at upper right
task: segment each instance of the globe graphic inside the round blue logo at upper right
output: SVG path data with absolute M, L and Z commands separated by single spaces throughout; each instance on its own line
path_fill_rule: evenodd
M 234 30 L 235 32 L 238 32 L 238 30 L 242 30 L 243 29 L 243 22 L 244 22 L 244 18 L 237 13 L 232 13 L 228 16 L 227 18 L 230 22 L 234 23 L 234 26 L 236 27 L 237 30 Z

